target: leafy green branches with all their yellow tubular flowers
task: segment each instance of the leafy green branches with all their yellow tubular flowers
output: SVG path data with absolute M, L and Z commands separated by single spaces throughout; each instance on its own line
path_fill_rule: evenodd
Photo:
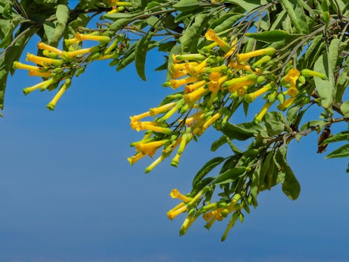
M 136 153 L 128 161 L 160 152 L 148 173 L 175 151 L 171 164 L 177 166 L 188 143 L 209 126 L 222 133 L 211 150 L 224 144 L 232 150 L 198 171 L 191 192 L 171 192 L 182 202 L 168 217 L 187 213 L 181 235 L 198 217 L 210 228 L 229 216 L 225 240 L 237 219 L 243 221 L 244 213 L 258 205 L 258 194 L 279 183 L 295 200 L 300 185 L 287 161 L 293 139 L 317 131 L 318 152 L 342 141 L 326 158 L 349 156 L 348 130 L 330 132 L 349 117 L 346 1 L 85 0 L 73 6 L 64 0 L 1 0 L 0 14 L 1 109 L 6 79 L 14 69 L 43 78 L 24 94 L 57 90 L 47 104 L 54 110 L 91 62 L 109 60 L 120 71 L 134 61 L 146 80 L 147 52 L 157 48 L 165 53 L 157 70 L 167 70 L 163 86 L 176 91 L 158 107 L 131 117 L 131 128 L 145 132 L 131 144 Z M 94 17 L 100 21 L 91 28 Z M 27 61 L 35 65 L 22 64 L 17 60 L 34 34 L 41 38 L 38 54 L 27 54 Z M 86 42 L 94 44 L 83 47 Z M 264 105 L 254 119 L 230 122 L 237 110 L 247 116 L 249 105 L 260 101 Z M 309 119 L 307 112 L 314 107 L 319 118 Z M 240 150 L 234 140 L 250 145 Z

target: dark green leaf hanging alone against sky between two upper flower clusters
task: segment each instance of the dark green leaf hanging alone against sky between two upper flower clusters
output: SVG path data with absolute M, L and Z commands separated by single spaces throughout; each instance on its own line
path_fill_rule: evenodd
M 135 68 L 140 78 L 144 81 L 146 80 L 145 59 L 147 57 L 148 47 L 152 36 L 153 34 L 151 33 L 146 34 L 135 46 Z

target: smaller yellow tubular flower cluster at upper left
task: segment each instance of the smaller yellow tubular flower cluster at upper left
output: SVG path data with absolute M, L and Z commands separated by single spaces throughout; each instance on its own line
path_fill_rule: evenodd
M 52 101 L 47 104 L 47 108 L 54 110 L 57 101 L 70 87 L 73 76 L 78 76 L 84 71 L 87 63 L 94 60 L 116 59 L 124 50 L 120 50 L 117 45 L 123 41 L 122 36 L 116 36 L 112 42 L 110 36 L 101 34 L 101 31 L 94 31 L 91 34 L 80 34 L 77 32 L 74 38 L 65 39 L 64 43 L 68 51 L 54 48 L 51 45 L 40 42 L 37 45 L 42 56 L 27 53 L 27 61 L 34 65 L 22 64 L 19 61 L 13 63 L 15 69 L 26 69 L 29 75 L 43 78 L 42 82 L 23 89 L 24 94 L 29 94 L 37 89 L 40 91 L 53 90 L 59 87 L 59 83 L 64 83 L 59 87 L 59 91 Z M 98 45 L 91 48 L 81 48 L 83 41 L 97 41 Z M 110 45 L 108 43 L 112 42 Z

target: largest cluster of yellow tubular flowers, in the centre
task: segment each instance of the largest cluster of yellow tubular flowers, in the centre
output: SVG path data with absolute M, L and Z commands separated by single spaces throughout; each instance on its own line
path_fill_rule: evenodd
M 251 103 L 258 96 L 264 96 L 266 103 L 254 119 L 260 122 L 276 101 L 280 102 L 280 110 L 290 107 L 297 97 L 297 88 L 305 82 L 304 76 L 290 66 L 280 81 L 287 88 L 282 92 L 282 87 L 275 82 L 277 75 L 269 73 L 276 67 L 272 58 L 276 50 L 272 47 L 237 53 L 237 38 L 229 44 L 212 29 L 205 38 L 211 43 L 197 54 L 172 54 L 172 79 L 163 86 L 176 90 L 184 87 L 181 92 L 166 97 L 157 108 L 131 117 L 131 129 L 146 131 L 142 140 L 131 144 L 136 150 L 136 154 L 128 158 L 131 165 L 161 151 L 145 169 L 146 173 L 178 147 L 171 161 L 172 166 L 177 166 L 193 138 L 201 136 L 211 124 L 219 129 L 228 121 L 234 103 Z M 285 99 L 286 95 L 290 98 Z M 152 119 L 149 121 L 147 117 Z

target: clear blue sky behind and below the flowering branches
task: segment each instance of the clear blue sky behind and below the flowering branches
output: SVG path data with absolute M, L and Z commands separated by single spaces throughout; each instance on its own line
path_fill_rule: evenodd
M 161 87 L 165 73 L 152 71 L 161 59 L 149 54 L 147 82 L 134 65 L 117 73 L 93 64 L 54 112 L 45 108 L 53 92 L 22 94 L 38 78 L 24 71 L 10 78 L 0 119 L 0 261 L 349 261 L 348 159 L 316 154 L 315 134 L 290 145 L 302 185 L 297 201 L 276 187 L 260 194 L 258 208 L 225 242 L 227 221 L 207 231 L 199 220 L 179 237 L 184 215 L 165 215 L 178 203 L 170 190 L 186 193 L 203 163 L 230 150 L 209 151 L 220 136 L 210 129 L 178 168 L 165 161 L 144 174 L 149 160 L 129 166 L 129 144 L 140 133 L 131 131 L 128 116 L 171 92 Z

